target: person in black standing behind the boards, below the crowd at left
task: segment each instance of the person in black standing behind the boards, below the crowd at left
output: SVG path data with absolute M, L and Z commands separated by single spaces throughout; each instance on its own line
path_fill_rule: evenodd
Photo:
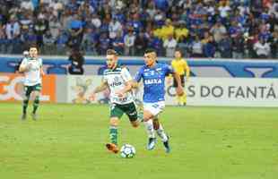
M 80 50 L 76 47 L 72 49 L 71 55 L 68 60 L 71 62 L 68 72 L 70 74 L 83 74 L 84 57 Z

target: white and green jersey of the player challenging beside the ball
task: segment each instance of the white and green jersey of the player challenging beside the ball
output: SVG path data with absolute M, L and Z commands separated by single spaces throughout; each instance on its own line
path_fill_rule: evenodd
M 126 81 L 132 81 L 132 77 L 125 67 L 117 65 L 113 70 L 106 69 L 103 72 L 103 80 L 109 84 L 111 103 L 123 105 L 134 101 L 131 91 L 126 92 L 124 98 L 119 98 L 116 94 L 118 90 L 123 90 L 126 87 Z

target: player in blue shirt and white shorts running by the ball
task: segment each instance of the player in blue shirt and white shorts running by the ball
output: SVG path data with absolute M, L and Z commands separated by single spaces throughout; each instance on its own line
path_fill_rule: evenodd
M 147 149 L 154 149 L 156 138 L 155 131 L 161 138 L 166 152 L 170 152 L 169 136 L 164 131 L 158 119 L 165 107 L 165 78 L 170 73 L 178 82 L 177 94 L 183 94 L 183 88 L 178 73 L 174 72 L 168 64 L 158 64 L 156 52 L 152 49 L 145 51 L 144 65 L 135 75 L 133 87 L 138 87 L 138 82 L 143 80 L 143 123 L 145 125 L 149 141 Z

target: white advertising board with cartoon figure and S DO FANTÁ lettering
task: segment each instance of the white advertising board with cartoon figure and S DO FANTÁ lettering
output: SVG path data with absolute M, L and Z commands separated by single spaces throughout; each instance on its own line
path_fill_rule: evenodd
M 68 76 L 68 103 L 108 103 L 109 90 L 91 96 L 101 76 Z M 278 107 L 278 81 L 250 78 L 195 78 L 187 81 L 188 106 Z M 167 105 L 177 105 L 172 79 L 166 80 Z M 134 90 L 136 102 L 142 101 L 143 85 Z

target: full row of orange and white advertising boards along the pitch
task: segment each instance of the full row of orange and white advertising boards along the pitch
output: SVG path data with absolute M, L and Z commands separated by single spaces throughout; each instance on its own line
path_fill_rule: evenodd
M 22 100 L 21 74 L 0 74 L 0 100 Z M 91 97 L 100 84 L 100 75 L 46 75 L 41 99 L 45 102 L 93 104 L 108 103 L 109 90 Z M 187 82 L 187 105 L 229 107 L 278 107 L 278 81 L 264 78 L 199 78 Z M 135 91 L 141 103 L 143 87 Z M 171 79 L 166 82 L 166 104 L 176 105 Z

